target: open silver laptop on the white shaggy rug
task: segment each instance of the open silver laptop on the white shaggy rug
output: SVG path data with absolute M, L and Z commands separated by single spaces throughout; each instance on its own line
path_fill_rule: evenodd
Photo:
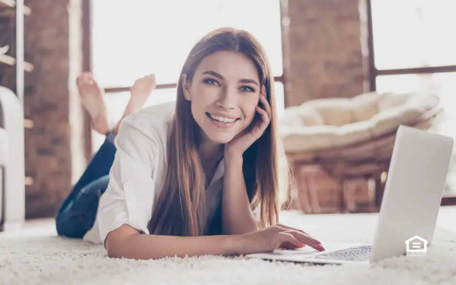
M 412 127 L 398 128 L 372 245 L 325 242 L 324 252 L 306 246 L 246 257 L 369 264 L 394 256 L 423 254 L 434 236 L 452 151 L 450 137 Z

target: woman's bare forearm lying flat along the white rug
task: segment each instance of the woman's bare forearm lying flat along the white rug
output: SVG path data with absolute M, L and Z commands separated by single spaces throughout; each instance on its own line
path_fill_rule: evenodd
M 240 254 L 238 252 L 235 238 L 231 236 L 176 237 L 134 234 L 115 241 L 108 248 L 110 257 L 132 259 Z

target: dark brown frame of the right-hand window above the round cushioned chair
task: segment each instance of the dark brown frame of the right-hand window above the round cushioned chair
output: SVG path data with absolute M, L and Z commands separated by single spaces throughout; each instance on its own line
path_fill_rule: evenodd
M 400 75 L 400 74 L 434 74 L 442 72 L 456 72 L 456 65 L 440 65 L 413 68 L 377 69 L 375 67 L 374 31 L 372 23 L 372 0 L 367 1 L 367 24 L 368 24 L 368 49 L 369 49 L 369 84 L 370 91 L 376 90 L 377 76 Z M 442 197 L 441 206 L 456 205 L 456 195 Z

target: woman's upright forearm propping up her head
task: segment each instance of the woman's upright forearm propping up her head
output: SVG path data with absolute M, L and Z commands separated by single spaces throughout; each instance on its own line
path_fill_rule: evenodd
M 224 234 L 228 235 L 241 235 L 259 228 L 248 200 L 242 163 L 242 156 L 225 157 L 222 219 Z

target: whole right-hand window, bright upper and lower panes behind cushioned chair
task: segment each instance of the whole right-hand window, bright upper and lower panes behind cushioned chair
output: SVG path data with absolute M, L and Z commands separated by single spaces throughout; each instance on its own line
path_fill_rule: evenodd
M 456 138 L 455 0 L 369 0 L 371 90 L 437 94 L 432 131 Z M 456 148 L 445 197 L 456 196 Z M 452 200 L 453 201 L 453 200 Z

